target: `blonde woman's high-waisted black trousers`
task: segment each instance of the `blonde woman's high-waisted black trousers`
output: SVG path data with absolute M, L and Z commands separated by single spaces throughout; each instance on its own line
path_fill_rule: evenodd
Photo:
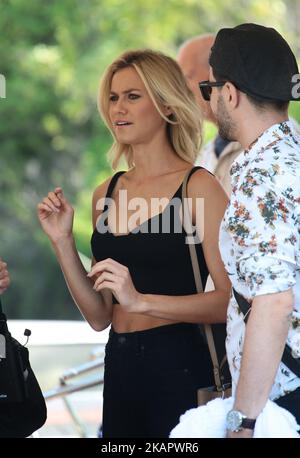
M 168 437 L 197 388 L 213 384 L 207 345 L 196 324 L 116 333 L 105 349 L 103 437 Z

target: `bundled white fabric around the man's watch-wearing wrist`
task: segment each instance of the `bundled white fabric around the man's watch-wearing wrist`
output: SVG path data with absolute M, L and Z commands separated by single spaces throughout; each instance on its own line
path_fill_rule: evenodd
M 226 437 L 226 415 L 232 409 L 234 398 L 214 399 L 206 405 L 187 410 L 171 431 L 170 438 Z M 300 438 L 295 417 L 275 402 L 268 400 L 257 417 L 254 438 Z

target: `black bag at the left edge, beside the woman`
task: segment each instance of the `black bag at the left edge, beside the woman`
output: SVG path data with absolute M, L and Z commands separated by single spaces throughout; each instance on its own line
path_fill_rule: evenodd
M 45 399 L 28 349 L 11 336 L 0 300 L 0 438 L 28 437 L 46 419 Z

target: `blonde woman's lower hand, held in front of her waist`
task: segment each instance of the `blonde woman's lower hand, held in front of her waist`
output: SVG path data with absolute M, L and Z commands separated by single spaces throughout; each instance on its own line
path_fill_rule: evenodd
M 88 277 L 96 276 L 94 284 L 95 291 L 109 289 L 119 304 L 131 313 L 140 313 L 141 294 L 135 289 L 131 275 L 126 266 L 123 266 L 113 259 L 105 259 L 97 262 Z

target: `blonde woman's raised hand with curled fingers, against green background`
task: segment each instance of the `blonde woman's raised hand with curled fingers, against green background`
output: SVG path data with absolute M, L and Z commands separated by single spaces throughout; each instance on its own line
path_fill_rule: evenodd
M 74 210 L 64 197 L 62 188 L 49 192 L 38 204 L 37 211 L 41 226 L 53 243 L 71 236 Z

